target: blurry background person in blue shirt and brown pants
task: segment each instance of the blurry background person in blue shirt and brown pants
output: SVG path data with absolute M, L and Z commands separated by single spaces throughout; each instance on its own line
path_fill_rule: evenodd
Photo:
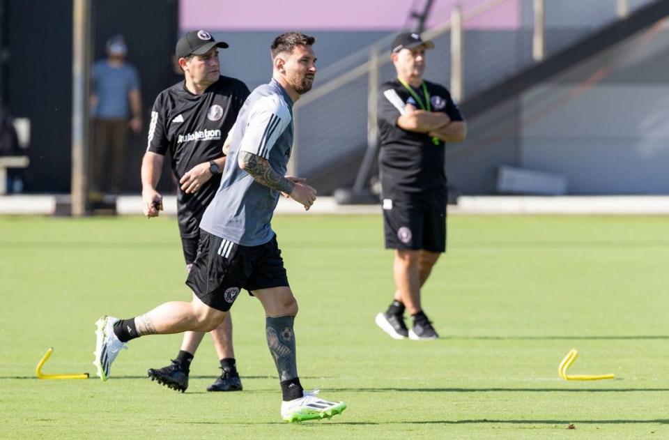
M 91 189 L 121 190 L 125 172 L 128 127 L 141 132 L 141 94 L 137 69 L 125 62 L 128 46 L 123 36 L 107 41 L 107 59 L 93 65 L 91 104 L 93 151 Z

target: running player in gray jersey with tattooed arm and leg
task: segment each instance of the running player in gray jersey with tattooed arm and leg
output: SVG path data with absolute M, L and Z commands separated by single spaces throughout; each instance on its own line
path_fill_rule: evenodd
M 272 81 L 255 89 L 230 134 L 220 188 L 206 208 L 197 257 L 186 284 L 190 303 L 174 301 L 130 319 L 104 316 L 98 326 L 95 365 L 109 379 L 118 352 L 136 337 L 183 331 L 211 331 L 225 319 L 240 289 L 259 299 L 266 314 L 266 337 L 274 358 L 283 402 L 281 416 L 293 422 L 332 417 L 346 409 L 306 392 L 295 358 L 293 323 L 298 303 L 270 221 L 279 195 L 309 209 L 316 190 L 305 179 L 284 176 L 293 144 L 293 104 L 312 88 L 316 75 L 315 38 L 284 33 L 271 46 Z

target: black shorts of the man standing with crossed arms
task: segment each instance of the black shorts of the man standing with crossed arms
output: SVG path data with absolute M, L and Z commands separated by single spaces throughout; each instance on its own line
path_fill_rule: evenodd
M 446 196 L 383 199 L 385 248 L 446 250 Z

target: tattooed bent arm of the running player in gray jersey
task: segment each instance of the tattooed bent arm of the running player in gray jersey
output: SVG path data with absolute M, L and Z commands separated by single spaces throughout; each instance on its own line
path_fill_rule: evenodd
M 295 202 L 305 206 L 307 211 L 314 204 L 316 200 L 316 190 L 314 188 L 307 185 L 304 179 L 284 177 L 275 172 L 267 159 L 247 151 L 240 151 L 238 163 L 239 167 L 251 174 L 256 182 L 289 195 Z

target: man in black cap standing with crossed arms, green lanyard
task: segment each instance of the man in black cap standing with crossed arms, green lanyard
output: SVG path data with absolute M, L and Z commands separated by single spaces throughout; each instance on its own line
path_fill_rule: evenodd
M 397 290 L 376 324 L 394 339 L 438 337 L 422 310 L 420 289 L 446 250 L 445 142 L 462 142 L 466 124 L 445 87 L 424 81 L 425 50 L 417 33 L 400 33 L 390 59 L 397 79 L 378 98 L 379 171 L 385 247 L 394 249 Z M 404 311 L 413 327 L 404 323 Z

